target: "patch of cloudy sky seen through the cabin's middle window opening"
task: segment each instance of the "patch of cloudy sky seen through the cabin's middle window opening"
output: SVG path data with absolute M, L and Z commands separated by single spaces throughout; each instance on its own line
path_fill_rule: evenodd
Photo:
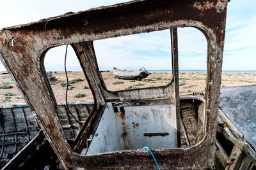
M 172 69 L 170 30 L 94 41 L 100 69 Z

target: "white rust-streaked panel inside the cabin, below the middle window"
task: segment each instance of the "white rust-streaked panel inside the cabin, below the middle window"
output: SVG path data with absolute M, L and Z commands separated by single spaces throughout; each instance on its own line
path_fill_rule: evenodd
M 139 149 L 144 146 L 176 148 L 175 105 L 171 103 L 172 101 L 169 105 L 118 108 L 113 108 L 112 104 L 108 103 L 86 155 Z M 162 135 L 152 134 L 161 132 Z M 151 134 L 145 136 L 147 133 Z

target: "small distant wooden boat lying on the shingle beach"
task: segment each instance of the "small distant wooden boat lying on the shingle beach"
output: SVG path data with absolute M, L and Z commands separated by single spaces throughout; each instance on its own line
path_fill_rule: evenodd
M 144 67 L 142 67 L 139 70 L 122 70 L 113 67 L 113 75 L 116 78 L 141 80 L 143 78 L 147 78 L 147 76 L 150 74 L 151 73 L 146 71 Z

